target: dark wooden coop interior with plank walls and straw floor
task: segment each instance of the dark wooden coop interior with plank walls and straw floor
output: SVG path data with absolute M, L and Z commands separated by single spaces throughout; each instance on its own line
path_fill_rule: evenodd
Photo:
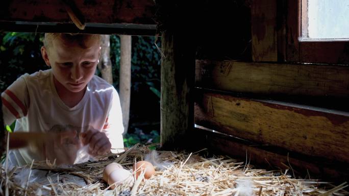
M 1 2 L 1 31 L 158 36 L 157 159 L 168 163 L 149 180 L 110 190 L 103 168 L 116 162 L 131 169 L 152 154 L 146 146 L 70 168 L 34 162 L 26 172 L 41 169 L 51 181 L 31 185 L 27 172 L 23 187 L 13 180 L 16 170 L 2 168 L 1 193 L 349 194 L 349 41 L 309 38 L 308 1 Z M 82 184 L 60 183 L 57 174 Z

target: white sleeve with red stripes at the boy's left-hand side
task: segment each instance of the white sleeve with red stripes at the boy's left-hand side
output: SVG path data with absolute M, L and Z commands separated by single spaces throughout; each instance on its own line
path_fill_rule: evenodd
M 18 78 L 2 94 L 4 122 L 11 125 L 12 122 L 28 114 L 29 94 L 24 77 Z

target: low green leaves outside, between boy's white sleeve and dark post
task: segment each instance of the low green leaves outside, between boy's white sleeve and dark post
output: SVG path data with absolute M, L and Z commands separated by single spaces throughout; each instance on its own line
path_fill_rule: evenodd
M 123 145 L 128 148 L 137 143 L 143 143 L 147 145 L 159 142 L 160 135 L 159 132 L 156 130 L 153 130 L 149 134 L 146 134 L 142 130 L 136 129 L 134 133 L 127 133 L 126 135 L 124 135 L 123 138 Z M 155 150 L 155 148 L 155 146 L 152 146 L 150 149 Z

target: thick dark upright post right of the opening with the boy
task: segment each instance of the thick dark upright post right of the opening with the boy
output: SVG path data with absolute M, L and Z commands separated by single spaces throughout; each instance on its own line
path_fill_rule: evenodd
M 160 130 L 161 146 L 167 150 L 184 148 L 186 133 L 194 127 L 195 47 L 192 38 L 188 32 L 162 32 Z

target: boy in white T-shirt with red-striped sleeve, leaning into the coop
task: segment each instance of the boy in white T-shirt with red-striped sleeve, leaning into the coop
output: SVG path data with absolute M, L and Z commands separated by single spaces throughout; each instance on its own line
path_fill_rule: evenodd
M 41 54 L 51 69 L 24 74 L 2 93 L 5 124 L 16 119 L 10 164 L 80 162 L 84 145 L 90 155 L 122 151 L 119 96 L 94 75 L 101 37 L 46 33 Z

